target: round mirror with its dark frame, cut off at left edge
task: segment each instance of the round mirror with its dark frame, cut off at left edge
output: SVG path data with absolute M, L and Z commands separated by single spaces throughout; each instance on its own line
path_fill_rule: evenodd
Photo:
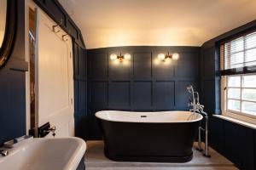
M 0 69 L 9 60 L 15 42 L 16 1 L 0 0 Z

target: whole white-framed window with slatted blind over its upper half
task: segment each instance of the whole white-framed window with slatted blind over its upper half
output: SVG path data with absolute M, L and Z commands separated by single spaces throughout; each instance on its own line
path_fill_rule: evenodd
M 220 46 L 222 111 L 256 122 L 256 31 Z

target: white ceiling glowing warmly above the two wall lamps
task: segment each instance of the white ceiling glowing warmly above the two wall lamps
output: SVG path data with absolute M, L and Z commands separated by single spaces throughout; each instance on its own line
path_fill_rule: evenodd
M 201 46 L 256 19 L 256 0 L 59 0 L 87 48 Z

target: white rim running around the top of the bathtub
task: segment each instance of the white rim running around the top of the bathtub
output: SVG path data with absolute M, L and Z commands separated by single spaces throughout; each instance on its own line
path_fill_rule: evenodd
M 106 110 L 106 111 L 115 111 L 115 110 Z M 201 122 L 201 120 L 203 119 L 203 116 L 199 113 L 194 112 L 194 114 L 199 115 L 199 118 L 195 119 L 195 120 L 190 120 L 190 121 L 176 121 L 176 122 L 136 122 L 136 121 L 119 121 L 119 120 L 109 120 L 105 117 L 100 116 L 100 114 L 102 112 L 105 111 L 97 111 L 95 113 L 96 118 L 104 120 L 104 121 L 108 121 L 108 122 L 124 122 L 124 123 L 189 123 L 189 122 Z M 150 113 L 165 113 L 165 112 L 178 112 L 178 111 L 117 111 L 117 112 L 133 112 L 133 113 L 142 113 L 142 114 L 150 114 Z M 191 111 L 180 111 L 180 112 L 190 112 Z

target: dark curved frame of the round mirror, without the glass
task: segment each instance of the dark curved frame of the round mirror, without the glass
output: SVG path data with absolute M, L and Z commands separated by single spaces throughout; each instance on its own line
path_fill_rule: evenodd
M 0 47 L 0 69 L 6 65 L 15 43 L 17 26 L 17 0 L 6 0 L 6 25 L 3 37 L 2 47 Z

